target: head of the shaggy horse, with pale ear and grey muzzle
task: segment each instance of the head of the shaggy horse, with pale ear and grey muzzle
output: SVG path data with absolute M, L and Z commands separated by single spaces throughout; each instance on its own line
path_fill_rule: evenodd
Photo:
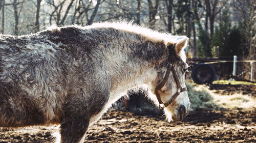
M 168 121 L 182 121 L 189 110 L 190 102 L 186 92 L 185 76 L 189 74 L 184 48 L 188 38 L 167 45 L 168 60 L 158 68 L 154 95 L 160 108 L 164 109 Z

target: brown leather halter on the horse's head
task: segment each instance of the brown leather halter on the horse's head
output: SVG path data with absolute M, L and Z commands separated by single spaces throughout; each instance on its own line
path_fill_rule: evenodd
M 167 103 L 163 103 L 162 100 L 161 100 L 161 97 L 160 97 L 160 95 L 159 95 L 159 93 L 158 93 L 158 91 L 161 90 L 161 89 L 163 88 L 164 84 L 167 82 L 167 80 L 168 80 L 168 78 L 169 78 L 170 71 L 173 72 L 174 79 L 175 79 L 176 85 L 177 85 L 177 92 L 176 92 L 175 95 L 173 95 L 172 98 L 170 98 L 170 100 L 169 100 Z M 175 69 L 174 69 L 174 65 L 168 63 L 168 64 L 167 64 L 167 71 L 166 71 L 166 73 L 165 73 L 165 76 L 164 76 L 164 78 L 163 78 L 163 81 L 160 82 L 160 83 L 157 85 L 156 89 L 155 89 L 155 95 L 156 95 L 157 100 L 158 100 L 158 102 L 159 102 L 159 107 L 160 107 L 160 108 L 165 108 L 165 107 L 167 107 L 170 103 L 172 103 L 172 102 L 180 95 L 180 93 L 185 92 L 186 90 L 187 90 L 186 87 L 183 87 L 183 88 L 182 88 L 181 85 L 180 85 L 180 80 L 178 79 L 177 73 L 176 73 L 176 71 L 175 71 Z

